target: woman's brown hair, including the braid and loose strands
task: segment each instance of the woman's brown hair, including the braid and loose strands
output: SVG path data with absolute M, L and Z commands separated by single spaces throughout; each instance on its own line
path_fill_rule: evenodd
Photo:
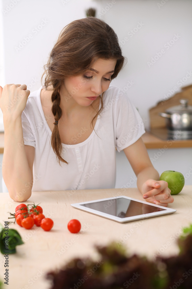
M 43 75 L 46 75 L 44 87 L 46 90 L 49 90 L 47 89 L 48 86 L 53 86 L 53 89 L 50 90 L 53 90 L 51 99 L 53 102 L 52 113 L 55 121 L 58 122 L 62 116 L 59 88 L 63 84 L 64 79 L 82 75 L 99 58 L 117 60 L 111 80 L 117 77 L 119 71 L 123 68 L 123 64 L 125 64 L 125 60 L 127 61 L 127 58 L 122 55 L 117 34 L 103 20 L 92 16 L 77 19 L 61 30 L 58 40 L 50 52 L 47 64 L 43 66 L 45 70 Z M 41 77 L 41 84 L 43 75 Z M 103 93 L 99 96 L 101 108 L 94 118 L 103 109 Z M 62 144 L 58 125 L 54 125 L 51 145 L 59 164 L 60 161 L 68 164 L 61 156 Z

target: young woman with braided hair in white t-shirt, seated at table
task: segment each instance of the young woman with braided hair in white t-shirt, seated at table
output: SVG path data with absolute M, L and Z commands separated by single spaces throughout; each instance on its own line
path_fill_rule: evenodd
M 146 201 L 173 202 L 141 139 L 138 111 L 120 88 L 109 86 L 126 60 L 107 23 L 78 19 L 60 32 L 39 90 L 0 86 L 2 173 L 13 200 L 26 201 L 32 191 L 114 188 L 117 149 L 128 158 Z

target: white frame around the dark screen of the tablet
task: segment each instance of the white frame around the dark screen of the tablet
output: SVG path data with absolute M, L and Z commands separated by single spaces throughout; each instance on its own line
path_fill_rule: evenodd
M 153 213 L 149 213 L 149 214 L 142 214 L 142 215 L 126 217 L 126 218 L 120 218 L 120 217 L 117 217 L 117 216 L 113 216 L 113 215 L 110 215 L 110 214 L 107 214 L 107 213 L 99 212 L 97 210 L 81 206 L 83 204 L 95 203 L 95 202 L 105 201 L 105 200 L 113 200 L 113 199 L 118 199 L 118 198 L 122 198 L 122 197 L 126 198 L 126 199 L 129 199 L 129 200 L 132 200 L 132 201 L 139 202 L 139 203 L 151 205 L 151 206 L 154 206 L 154 207 L 157 207 L 157 208 L 162 208 L 162 209 L 164 209 L 164 211 L 153 212 Z M 117 221 L 117 222 L 120 222 L 120 223 L 127 223 L 127 222 L 131 222 L 131 221 L 136 221 L 136 220 L 145 219 L 145 218 L 152 218 L 152 217 L 172 214 L 172 213 L 176 212 L 175 209 L 171 209 L 171 208 L 167 208 L 167 207 L 164 207 L 164 206 L 155 205 L 155 204 L 152 204 L 152 203 L 147 203 L 146 201 L 140 201 L 138 199 L 134 199 L 134 198 L 127 197 L 127 196 L 110 197 L 110 198 L 98 199 L 98 200 L 94 200 L 94 201 L 75 203 L 75 204 L 71 204 L 71 206 L 74 207 L 74 208 L 80 209 L 82 211 L 86 211 L 86 212 L 95 214 L 97 216 L 102 216 L 104 218 L 108 218 L 110 220 Z

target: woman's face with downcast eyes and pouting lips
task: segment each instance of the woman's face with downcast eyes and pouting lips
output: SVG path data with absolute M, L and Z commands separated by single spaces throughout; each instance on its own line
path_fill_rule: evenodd
M 88 97 L 98 97 L 102 92 L 109 88 L 111 75 L 114 73 L 116 60 L 103 60 L 99 58 L 91 69 L 83 75 L 68 77 L 64 80 L 64 86 L 61 88 L 61 95 L 69 103 L 78 103 L 82 106 L 88 106 L 94 100 Z

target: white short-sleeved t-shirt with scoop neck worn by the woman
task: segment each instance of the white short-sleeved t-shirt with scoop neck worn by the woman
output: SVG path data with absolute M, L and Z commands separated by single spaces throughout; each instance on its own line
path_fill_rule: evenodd
M 120 152 L 145 133 L 143 121 L 128 96 L 120 88 L 109 86 L 94 127 L 97 135 L 93 130 L 81 143 L 62 143 L 62 158 L 69 164 L 60 162 L 60 166 L 41 105 L 43 88 L 29 95 L 22 112 L 24 144 L 35 147 L 32 191 L 115 188 L 115 147 Z

